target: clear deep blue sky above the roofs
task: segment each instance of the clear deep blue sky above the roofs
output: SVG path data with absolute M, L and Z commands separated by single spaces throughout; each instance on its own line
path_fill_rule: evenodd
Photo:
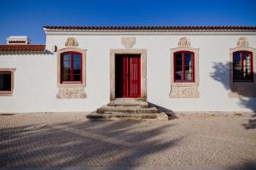
M 0 0 L 0 43 L 43 26 L 256 26 L 256 0 Z

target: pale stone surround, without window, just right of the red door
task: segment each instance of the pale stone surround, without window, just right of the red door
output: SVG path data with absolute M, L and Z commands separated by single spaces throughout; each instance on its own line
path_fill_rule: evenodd
M 170 98 L 199 98 L 199 48 L 191 48 L 188 38 L 181 37 L 178 42 L 178 48 L 171 48 L 171 93 Z M 195 82 L 174 82 L 174 53 L 178 51 L 190 51 L 195 54 Z

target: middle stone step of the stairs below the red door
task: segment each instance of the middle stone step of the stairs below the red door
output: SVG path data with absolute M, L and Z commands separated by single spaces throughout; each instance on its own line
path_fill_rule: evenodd
M 155 107 L 151 108 L 137 108 L 137 107 L 113 107 L 113 106 L 103 106 L 97 109 L 97 113 L 104 113 L 104 112 L 122 112 L 122 113 L 157 113 L 158 110 Z

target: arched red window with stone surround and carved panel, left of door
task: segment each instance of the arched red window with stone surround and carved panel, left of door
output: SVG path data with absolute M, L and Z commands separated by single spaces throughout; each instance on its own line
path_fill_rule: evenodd
M 85 50 L 63 48 L 57 51 L 57 99 L 84 99 Z

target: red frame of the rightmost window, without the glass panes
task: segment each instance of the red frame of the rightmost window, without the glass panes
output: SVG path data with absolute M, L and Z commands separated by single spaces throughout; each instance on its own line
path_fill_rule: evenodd
M 234 63 L 234 58 L 235 58 L 235 54 L 240 54 L 240 60 L 241 60 L 241 75 L 244 74 L 243 72 L 243 66 L 244 66 L 244 54 L 250 54 L 250 71 L 251 71 L 251 79 L 240 79 L 240 80 L 234 80 L 234 67 L 235 67 L 235 63 Z M 233 71 L 233 82 L 253 82 L 253 52 L 251 51 L 236 51 L 233 53 L 233 58 L 232 58 L 232 71 Z M 243 77 L 243 76 L 241 76 Z

